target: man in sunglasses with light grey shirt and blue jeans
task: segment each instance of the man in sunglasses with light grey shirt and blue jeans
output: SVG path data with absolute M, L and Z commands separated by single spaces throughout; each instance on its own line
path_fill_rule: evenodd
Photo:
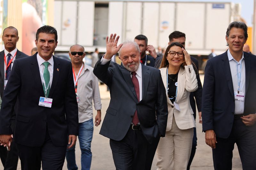
M 72 63 L 73 79 L 78 104 L 79 119 L 79 144 L 81 149 L 81 166 L 83 170 L 90 170 L 92 162 L 92 134 L 93 134 L 93 109 L 97 110 L 95 126 L 101 122 L 101 102 L 98 78 L 93 74 L 93 68 L 83 62 L 84 47 L 73 45 L 70 47 L 69 56 Z M 76 166 L 75 145 L 66 152 L 68 170 L 78 169 Z

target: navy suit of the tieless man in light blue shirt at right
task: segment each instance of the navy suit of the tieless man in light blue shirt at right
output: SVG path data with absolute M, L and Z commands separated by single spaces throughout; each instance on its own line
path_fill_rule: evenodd
M 256 56 L 244 52 L 245 99 L 244 115 L 256 113 Z M 227 51 L 207 61 L 202 97 L 203 131 L 213 129 L 216 149 L 213 149 L 215 169 L 232 168 L 234 143 L 243 169 L 256 169 L 256 125 L 245 126 L 234 119 L 235 98 Z

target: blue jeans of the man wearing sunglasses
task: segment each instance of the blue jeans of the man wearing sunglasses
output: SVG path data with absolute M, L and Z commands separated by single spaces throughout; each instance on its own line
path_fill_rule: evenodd
M 93 119 L 79 123 L 79 144 L 81 149 L 81 166 L 82 170 L 90 170 L 92 162 L 92 143 L 93 134 Z M 66 152 L 68 170 L 77 170 L 76 157 L 75 157 L 75 146 L 67 149 Z

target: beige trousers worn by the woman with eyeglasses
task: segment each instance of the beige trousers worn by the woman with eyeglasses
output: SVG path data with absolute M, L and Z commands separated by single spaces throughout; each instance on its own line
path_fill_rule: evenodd
M 156 149 L 157 170 L 187 170 L 193 135 L 193 128 L 179 129 L 173 115 L 172 129 L 160 138 Z

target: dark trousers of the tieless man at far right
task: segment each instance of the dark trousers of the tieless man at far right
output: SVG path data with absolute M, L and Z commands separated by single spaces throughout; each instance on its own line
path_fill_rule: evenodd
M 250 131 L 241 119 L 234 119 L 227 139 L 216 138 L 216 149 L 212 149 L 215 170 L 231 170 L 234 144 L 236 143 L 243 170 L 256 169 L 256 132 Z

